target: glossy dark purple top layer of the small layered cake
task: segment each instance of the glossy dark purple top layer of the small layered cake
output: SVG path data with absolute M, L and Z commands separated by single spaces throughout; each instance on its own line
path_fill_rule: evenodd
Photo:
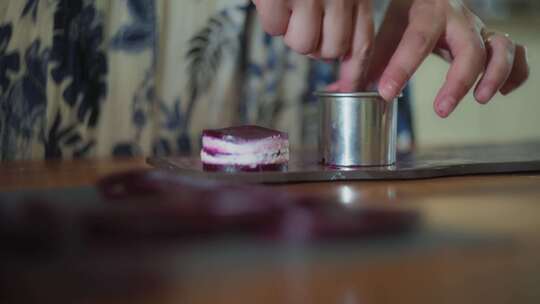
M 285 132 L 280 132 L 253 125 L 230 127 L 216 130 L 204 130 L 203 136 L 216 138 L 231 143 L 242 143 L 247 141 L 262 140 L 266 138 L 289 139 L 289 135 Z

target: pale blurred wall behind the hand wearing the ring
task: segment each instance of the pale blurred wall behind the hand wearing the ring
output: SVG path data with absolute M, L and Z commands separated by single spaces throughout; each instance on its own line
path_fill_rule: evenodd
M 448 64 L 430 57 L 413 81 L 415 130 L 421 147 L 470 143 L 540 141 L 540 1 L 469 0 L 490 29 L 510 34 L 527 45 L 531 76 L 509 96 L 478 104 L 472 94 L 448 119 L 433 111 L 433 100 Z

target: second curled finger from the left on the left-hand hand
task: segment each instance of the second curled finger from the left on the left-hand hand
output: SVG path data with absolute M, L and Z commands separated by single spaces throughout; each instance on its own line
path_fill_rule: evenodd
M 285 43 L 300 54 L 307 55 L 317 51 L 322 18 L 323 9 L 318 1 L 295 1 L 284 37 Z

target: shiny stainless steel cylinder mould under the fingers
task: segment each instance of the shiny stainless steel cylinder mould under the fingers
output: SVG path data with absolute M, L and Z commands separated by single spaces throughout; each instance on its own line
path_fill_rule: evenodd
M 319 153 L 338 167 L 388 166 L 396 162 L 397 101 L 376 92 L 318 92 Z

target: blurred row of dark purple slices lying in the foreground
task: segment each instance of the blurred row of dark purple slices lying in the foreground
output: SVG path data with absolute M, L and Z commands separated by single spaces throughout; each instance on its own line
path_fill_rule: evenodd
M 102 179 L 98 189 L 112 205 L 103 210 L 96 204 L 90 213 L 84 209 L 83 239 L 114 244 L 231 236 L 286 242 L 366 239 L 412 232 L 421 219 L 416 210 L 352 207 L 325 196 L 171 171 L 124 172 Z M 0 226 L 1 219 L 0 213 Z M 73 221 L 64 222 L 74 227 Z

